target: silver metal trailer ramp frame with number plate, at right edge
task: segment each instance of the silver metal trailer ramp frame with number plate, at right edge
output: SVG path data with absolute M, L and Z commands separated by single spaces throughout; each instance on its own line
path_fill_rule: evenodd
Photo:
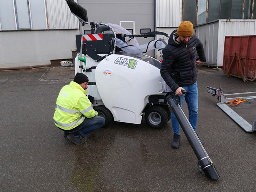
M 218 96 L 220 102 L 216 105 L 242 127 L 245 132 L 249 133 L 256 131 L 256 92 L 223 94 L 221 88 L 216 89 L 211 87 L 207 87 L 207 92 Z M 244 96 L 248 94 L 252 96 Z M 231 95 L 236 95 L 237 97 L 228 98 Z M 247 101 L 236 106 L 231 106 L 226 103 L 227 101 L 232 101 L 237 98 L 243 98 Z

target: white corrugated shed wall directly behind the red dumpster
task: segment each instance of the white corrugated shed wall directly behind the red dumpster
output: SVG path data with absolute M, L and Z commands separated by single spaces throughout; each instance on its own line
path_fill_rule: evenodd
M 256 19 L 219 19 L 217 66 L 223 65 L 225 36 L 256 35 Z

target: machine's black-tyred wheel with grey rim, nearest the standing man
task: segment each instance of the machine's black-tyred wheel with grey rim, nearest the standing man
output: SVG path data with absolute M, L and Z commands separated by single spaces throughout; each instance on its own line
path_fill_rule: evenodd
M 144 119 L 150 127 L 161 129 L 167 123 L 169 116 L 164 107 L 155 105 L 146 110 Z

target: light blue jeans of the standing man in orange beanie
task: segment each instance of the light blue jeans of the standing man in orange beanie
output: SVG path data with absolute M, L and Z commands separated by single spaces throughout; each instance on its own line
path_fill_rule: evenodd
M 189 86 L 182 86 L 188 92 L 180 96 L 180 107 L 182 107 L 184 97 L 189 109 L 189 123 L 193 127 L 196 132 L 197 125 L 197 114 L 198 114 L 198 90 L 197 90 L 197 82 Z M 174 131 L 174 134 L 180 134 L 180 124 L 174 115 L 174 112 L 171 112 L 171 125 Z

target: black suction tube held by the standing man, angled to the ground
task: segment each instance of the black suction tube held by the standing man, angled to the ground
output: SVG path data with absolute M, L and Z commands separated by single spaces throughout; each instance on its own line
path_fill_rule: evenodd
M 182 91 L 182 93 L 187 93 L 187 91 Z M 174 112 L 180 126 L 189 140 L 189 143 L 198 159 L 198 164 L 200 168 L 204 171 L 205 175 L 210 179 L 218 180 L 220 178 L 213 162 L 210 160 L 210 157 L 206 153 L 202 143 L 200 142 L 197 134 L 195 133 L 193 127 L 189 123 L 186 115 L 184 114 L 182 108 L 178 103 L 178 96 L 173 92 L 169 92 L 165 95 L 166 101 L 171 106 L 172 111 Z

